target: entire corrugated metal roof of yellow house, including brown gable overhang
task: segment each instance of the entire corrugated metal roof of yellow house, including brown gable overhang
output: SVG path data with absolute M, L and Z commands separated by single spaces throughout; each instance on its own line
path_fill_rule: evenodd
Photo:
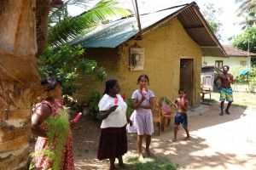
M 160 26 L 166 20 L 171 20 L 174 16 L 177 16 L 185 31 L 201 46 L 204 56 L 226 56 L 224 48 L 207 25 L 196 3 L 140 15 L 143 33 Z M 115 48 L 131 37 L 136 37 L 138 32 L 137 18 L 133 16 L 98 26 L 72 44 L 80 43 L 84 48 Z

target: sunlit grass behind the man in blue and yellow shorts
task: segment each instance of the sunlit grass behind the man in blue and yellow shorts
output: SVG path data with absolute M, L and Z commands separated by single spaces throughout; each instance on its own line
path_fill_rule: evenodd
M 255 100 L 256 100 L 256 94 L 252 93 L 233 93 L 233 106 L 241 107 L 243 109 L 254 109 L 256 110 Z M 210 100 L 209 95 L 205 96 L 206 102 L 218 102 L 219 100 L 219 94 L 218 93 L 212 93 L 212 99 Z

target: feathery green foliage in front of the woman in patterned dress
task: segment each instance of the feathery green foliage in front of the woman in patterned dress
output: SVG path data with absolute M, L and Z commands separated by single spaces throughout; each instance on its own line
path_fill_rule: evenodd
M 63 147 L 67 144 L 69 133 L 69 115 L 66 109 L 59 109 L 56 116 L 49 116 L 45 119 L 44 124 L 47 127 L 47 148 L 35 151 L 32 157 L 44 155 L 52 161 L 52 169 L 58 170 L 61 167 Z M 52 150 L 55 148 L 55 150 Z

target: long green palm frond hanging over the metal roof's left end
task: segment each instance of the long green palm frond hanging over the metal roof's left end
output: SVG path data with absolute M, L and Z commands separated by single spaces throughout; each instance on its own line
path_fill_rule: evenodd
M 49 15 L 49 45 L 60 46 L 82 36 L 89 28 L 98 26 L 101 21 L 108 17 L 120 15 L 122 17 L 131 14 L 131 10 L 118 7 L 117 0 L 100 0 L 91 7 L 92 0 L 66 0 L 59 9 L 52 9 Z M 86 10 L 78 16 L 67 14 L 67 5 L 77 5 Z M 52 26 L 54 25 L 54 26 Z

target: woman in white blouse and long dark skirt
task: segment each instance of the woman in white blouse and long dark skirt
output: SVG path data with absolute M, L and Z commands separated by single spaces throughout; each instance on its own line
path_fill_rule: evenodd
M 127 105 L 119 94 L 120 87 L 117 80 L 108 80 L 104 95 L 99 103 L 102 119 L 101 137 L 97 158 L 109 159 L 110 170 L 116 169 L 115 158 L 119 159 L 119 166 L 125 167 L 122 156 L 127 152 L 126 124 L 132 125 L 126 116 Z

